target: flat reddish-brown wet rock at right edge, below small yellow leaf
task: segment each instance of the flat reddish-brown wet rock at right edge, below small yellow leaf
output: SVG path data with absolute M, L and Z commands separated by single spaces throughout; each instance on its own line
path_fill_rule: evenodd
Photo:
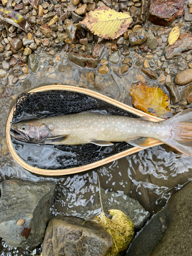
M 165 57 L 166 59 L 173 59 L 177 56 L 181 56 L 183 52 L 192 49 L 192 33 L 184 32 L 180 34 L 179 39 L 175 42 L 174 45 L 166 47 Z

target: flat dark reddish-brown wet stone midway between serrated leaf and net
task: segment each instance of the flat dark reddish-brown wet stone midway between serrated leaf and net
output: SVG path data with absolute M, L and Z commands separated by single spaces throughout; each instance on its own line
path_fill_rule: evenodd
M 95 69 L 99 65 L 99 58 L 98 57 L 88 55 L 88 54 L 84 54 L 84 53 L 81 53 L 81 52 L 78 52 L 78 53 L 70 52 L 68 54 L 68 59 L 72 63 L 74 63 L 77 66 L 80 66 L 82 68 Z

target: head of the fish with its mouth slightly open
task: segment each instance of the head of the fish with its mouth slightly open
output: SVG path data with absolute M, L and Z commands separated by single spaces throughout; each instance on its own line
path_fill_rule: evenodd
M 20 141 L 40 143 L 49 136 L 50 131 L 44 123 L 37 120 L 12 124 L 10 134 Z

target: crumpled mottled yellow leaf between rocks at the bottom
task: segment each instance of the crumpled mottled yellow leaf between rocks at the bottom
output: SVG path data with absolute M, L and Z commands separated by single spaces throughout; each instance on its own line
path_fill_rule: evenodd
M 115 256 L 124 251 L 134 238 L 134 225 L 132 220 L 120 210 L 109 210 L 112 219 L 108 219 L 102 211 L 99 216 L 93 218 L 111 234 L 113 245 L 105 256 Z

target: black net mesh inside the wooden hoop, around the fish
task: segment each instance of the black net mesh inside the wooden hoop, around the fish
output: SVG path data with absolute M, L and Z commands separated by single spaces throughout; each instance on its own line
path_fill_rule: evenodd
M 117 108 L 105 101 L 88 96 L 86 94 L 69 92 L 69 91 L 47 91 L 36 93 L 24 93 L 19 95 L 14 106 L 12 123 L 33 118 L 45 118 L 56 115 L 75 114 L 89 110 L 105 110 L 109 115 L 121 115 L 137 118 L 138 116 Z M 20 142 L 12 138 L 13 145 L 17 154 L 25 159 L 32 166 L 47 169 L 65 169 L 77 167 L 96 162 L 106 157 L 110 157 L 119 152 L 125 151 L 131 147 L 126 142 L 115 142 L 112 146 L 100 147 L 94 144 L 84 145 L 51 145 L 57 150 L 70 154 L 55 154 L 55 166 L 49 167 L 49 164 L 39 164 L 38 161 L 31 156 L 31 144 Z M 20 148 L 25 145 L 25 154 L 30 156 L 24 157 Z M 47 145 L 40 145 L 46 147 Z M 39 147 L 39 145 L 38 145 Z M 50 147 L 50 145 L 49 145 Z M 54 151 L 54 150 L 53 150 Z M 48 159 L 49 161 L 49 159 Z M 59 165 L 59 166 L 58 166 Z

